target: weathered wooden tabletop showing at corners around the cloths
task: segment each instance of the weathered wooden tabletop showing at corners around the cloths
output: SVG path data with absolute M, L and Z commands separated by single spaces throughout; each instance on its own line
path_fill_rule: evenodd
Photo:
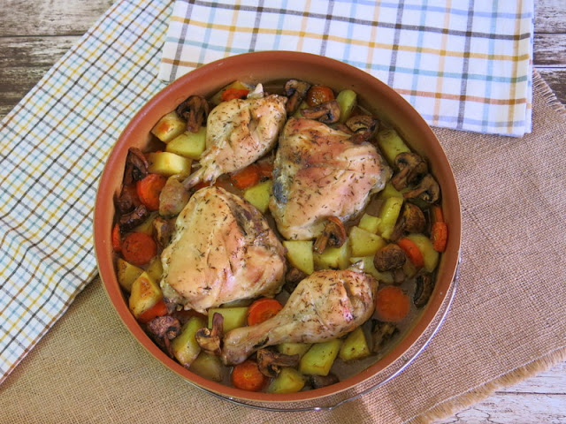
M 98 19 L 112 0 L 0 2 L 0 118 Z M 534 65 L 566 103 L 566 0 L 536 2 Z M 440 423 L 565 423 L 566 362 Z

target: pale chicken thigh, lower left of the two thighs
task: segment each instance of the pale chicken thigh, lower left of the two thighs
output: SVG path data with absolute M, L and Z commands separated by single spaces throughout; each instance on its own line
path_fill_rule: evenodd
M 286 271 L 285 250 L 264 216 L 219 187 L 202 188 L 188 201 L 161 261 L 164 296 L 201 313 L 272 297 Z

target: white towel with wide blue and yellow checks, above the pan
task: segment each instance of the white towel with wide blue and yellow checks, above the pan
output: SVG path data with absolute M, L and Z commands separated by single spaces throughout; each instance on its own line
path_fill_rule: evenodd
M 430 125 L 531 132 L 532 0 L 177 0 L 159 77 L 257 50 L 333 57 L 393 87 Z

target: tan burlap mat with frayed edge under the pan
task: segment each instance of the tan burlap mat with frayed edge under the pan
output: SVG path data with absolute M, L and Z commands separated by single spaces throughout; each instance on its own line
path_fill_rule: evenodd
M 566 359 L 566 112 L 535 74 L 522 139 L 435 130 L 463 212 L 459 288 L 401 375 L 330 412 L 212 397 L 149 356 L 95 280 L 0 386 L 0 422 L 427 422 Z

